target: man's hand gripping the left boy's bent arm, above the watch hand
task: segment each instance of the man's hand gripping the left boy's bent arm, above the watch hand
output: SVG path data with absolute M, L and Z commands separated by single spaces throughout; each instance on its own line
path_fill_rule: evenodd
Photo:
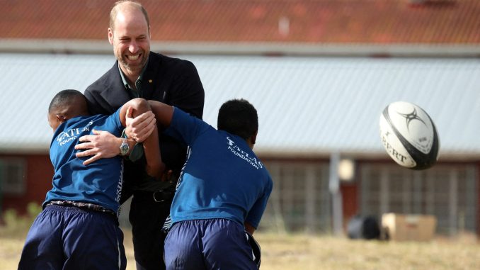
M 132 118 L 131 108 L 127 108 L 127 115 L 125 116 L 126 128 L 125 133 L 127 137 L 136 142 L 143 142 L 154 131 L 156 120 L 152 111 L 142 113 L 136 118 Z

